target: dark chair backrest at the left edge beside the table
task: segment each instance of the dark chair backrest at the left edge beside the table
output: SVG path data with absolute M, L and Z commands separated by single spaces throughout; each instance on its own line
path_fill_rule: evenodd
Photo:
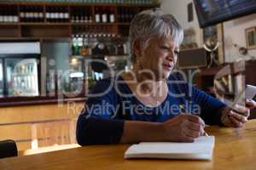
M 17 146 L 14 140 L 0 141 L 0 158 L 18 156 Z

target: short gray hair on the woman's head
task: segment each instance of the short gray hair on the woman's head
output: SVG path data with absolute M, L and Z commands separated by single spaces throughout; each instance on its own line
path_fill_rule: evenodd
M 131 43 L 131 58 L 136 60 L 133 53 L 134 42 L 139 41 L 140 47 L 146 48 L 152 37 L 172 39 L 180 45 L 183 42 L 183 28 L 172 14 L 164 14 L 160 8 L 148 9 L 137 14 L 131 20 L 129 42 Z

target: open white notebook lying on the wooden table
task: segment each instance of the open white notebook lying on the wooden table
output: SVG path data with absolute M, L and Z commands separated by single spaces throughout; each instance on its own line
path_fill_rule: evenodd
M 201 136 L 193 143 L 142 142 L 125 151 L 125 159 L 158 158 L 212 160 L 214 136 Z

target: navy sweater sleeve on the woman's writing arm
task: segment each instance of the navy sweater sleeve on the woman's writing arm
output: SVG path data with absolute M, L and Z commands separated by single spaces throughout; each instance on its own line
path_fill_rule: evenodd
M 119 143 L 124 120 L 118 119 L 119 99 L 110 86 L 111 82 L 106 80 L 97 82 L 86 99 L 77 122 L 77 140 L 80 145 Z M 101 95 L 94 97 L 96 94 Z

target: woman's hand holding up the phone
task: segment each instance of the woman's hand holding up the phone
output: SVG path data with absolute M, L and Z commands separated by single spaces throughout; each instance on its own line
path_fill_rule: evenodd
M 250 116 L 250 109 L 256 108 L 253 99 L 246 100 L 247 107 L 236 105 L 235 108 L 226 107 L 222 111 L 221 122 L 227 127 L 243 127 Z

